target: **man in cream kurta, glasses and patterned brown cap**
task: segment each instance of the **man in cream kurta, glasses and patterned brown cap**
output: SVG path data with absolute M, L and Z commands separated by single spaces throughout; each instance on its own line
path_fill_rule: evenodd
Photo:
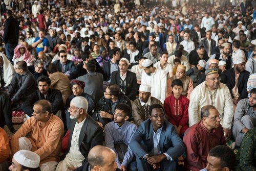
M 220 83 L 220 76 L 217 68 L 207 69 L 205 71 L 206 79 L 199 84 L 190 95 L 188 107 L 189 126 L 193 126 L 201 120 L 200 110 L 205 105 L 213 105 L 220 112 L 223 119 L 220 124 L 223 127 L 225 137 L 231 136 L 231 126 L 233 118 L 233 105 L 231 94 L 228 87 Z

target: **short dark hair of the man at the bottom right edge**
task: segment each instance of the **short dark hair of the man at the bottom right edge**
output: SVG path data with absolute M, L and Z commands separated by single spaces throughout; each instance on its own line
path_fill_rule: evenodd
M 221 161 L 221 167 L 228 167 L 230 170 L 236 166 L 236 155 L 233 150 L 226 145 L 217 145 L 209 152 L 209 156 L 219 158 Z

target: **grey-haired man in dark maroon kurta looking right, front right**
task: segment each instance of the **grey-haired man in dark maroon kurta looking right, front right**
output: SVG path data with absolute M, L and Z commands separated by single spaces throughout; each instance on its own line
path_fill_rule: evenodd
M 225 145 L 221 116 L 216 107 L 206 105 L 201 109 L 199 123 L 189 127 L 183 137 L 186 148 L 185 168 L 200 170 L 207 165 L 209 151 L 217 145 Z

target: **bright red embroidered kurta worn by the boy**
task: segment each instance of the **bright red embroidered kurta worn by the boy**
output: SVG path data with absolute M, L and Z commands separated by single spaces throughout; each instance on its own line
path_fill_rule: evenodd
M 168 96 L 164 100 L 164 110 L 168 116 L 169 123 L 179 127 L 182 126 L 180 130 L 180 135 L 184 133 L 188 128 L 188 106 L 189 100 L 186 96 L 181 95 L 179 99 L 176 99 L 174 95 Z

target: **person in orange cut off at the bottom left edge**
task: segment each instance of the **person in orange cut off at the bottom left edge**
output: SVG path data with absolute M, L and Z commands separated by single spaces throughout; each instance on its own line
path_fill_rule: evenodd
M 7 133 L 0 128 L 0 170 L 8 170 L 10 144 Z

